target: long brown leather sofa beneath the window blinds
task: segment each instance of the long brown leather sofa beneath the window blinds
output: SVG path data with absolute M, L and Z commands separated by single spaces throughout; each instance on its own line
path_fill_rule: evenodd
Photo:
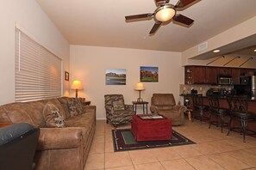
M 61 97 L 0 106 L 0 122 L 40 127 L 35 169 L 84 169 L 96 128 L 96 106 L 77 101 Z

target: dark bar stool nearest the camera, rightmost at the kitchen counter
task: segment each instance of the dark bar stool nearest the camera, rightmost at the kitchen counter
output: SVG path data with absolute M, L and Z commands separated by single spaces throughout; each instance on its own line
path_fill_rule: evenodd
M 232 129 L 237 129 L 237 127 L 231 127 L 234 119 L 240 120 L 240 133 L 243 135 L 243 142 L 246 142 L 246 132 L 251 131 L 247 130 L 247 124 L 249 122 L 256 121 L 256 114 L 248 112 L 248 100 L 240 97 L 228 97 L 228 106 L 230 119 L 228 121 L 228 134 Z M 256 134 L 255 131 L 251 131 L 253 134 Z

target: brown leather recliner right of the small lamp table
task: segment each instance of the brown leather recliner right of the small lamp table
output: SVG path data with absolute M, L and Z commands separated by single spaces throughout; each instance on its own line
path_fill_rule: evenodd
M 172 125 L 184 124 L 186 106 L 176 105 L 173 94 L 153 94 L 150 110 L 153 114 L 161 114 L 172 119 Z

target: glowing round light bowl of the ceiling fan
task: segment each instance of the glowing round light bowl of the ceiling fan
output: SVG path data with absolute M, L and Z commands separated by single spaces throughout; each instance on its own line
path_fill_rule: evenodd
M 165 4 L 155 10 L 155 19 L 157 21 L 169 21 L 176 14 L 176 10 L 171 4 Z

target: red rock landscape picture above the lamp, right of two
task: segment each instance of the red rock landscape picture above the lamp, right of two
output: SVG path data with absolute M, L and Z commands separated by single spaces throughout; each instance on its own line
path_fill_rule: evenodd
M 140 66 L 140 82 L 159 82 L 159 68 Z

